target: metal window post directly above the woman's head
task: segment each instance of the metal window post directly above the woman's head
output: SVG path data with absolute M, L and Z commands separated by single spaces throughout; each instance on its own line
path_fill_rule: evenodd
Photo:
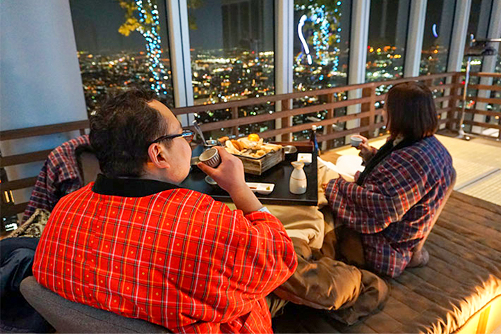
M 404 65 L 404 77 L 417 77 L 420 73 L 424 22 L 427 0 L 412 0 Z

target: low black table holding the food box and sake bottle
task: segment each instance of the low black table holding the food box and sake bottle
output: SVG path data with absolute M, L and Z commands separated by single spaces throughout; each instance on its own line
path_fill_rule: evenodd
M 198 157 L 202 152 L 202 146 L 197 146 L 193 149 L 192 156 Z M 317 192 L 317 154 L 312 152 L 311 148 L 298 147 L 298 152 L 312 153 L 312 163 L 304 166 L 306 179 L 308 180 L 308 187 L 306 192 L 302 195 L 294 195 L 289 192 L 289 178 L 294 167 L 291 161 L 297 159 L 297 153 L 290 154 L 292 157 L 286 156 L 286 160 L 280 164 L 273 166 L 262 175 L 246 174 L 246 182 L 260 182 L 260 183 L 273 183 L 275 189 L 269 195 L 261 195 L 255 193 L 257 198 L 263 204 L 276 204 L 276 205 L 317 205 L 318 192 Z M 205 182 L 205 173 L 202 172 L 197 166 L 191 166 L 191 171 L 182 182 L 181 186 L 187 189 L 205 193 L 216 200 L 223 202 L 231 201 L 230 195 L 217 185 L 211 185 Z

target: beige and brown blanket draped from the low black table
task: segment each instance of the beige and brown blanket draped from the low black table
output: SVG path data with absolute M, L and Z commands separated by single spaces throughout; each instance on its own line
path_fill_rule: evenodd
M 339 175 L 319 161 L 317 207 L 267 205 L 294 242 L 299 262 L 294 275 L 274 294 L 296 304 L 331 311 L 335 319 L 354 324 L 382 308 L 388 286 L 374 273 L 335 260 L 333 218 L 328 207 L 321 211 L 327 204 L 321 185 L 336 177 Z M 273 313 L 276 311 L 273 308 Z

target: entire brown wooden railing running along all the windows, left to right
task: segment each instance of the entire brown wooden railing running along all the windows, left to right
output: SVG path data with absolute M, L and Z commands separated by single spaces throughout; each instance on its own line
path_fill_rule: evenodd
M 500 78 L 501 74 L 491 73 L 474 73 L 472 77 L 495 77 Z M 305 129 L 310 129 L 312 125 L 324 127 L 324 132 L 318 136 L 320 142 L 327 142 L 327 148 L 332 147 L 332 141 L 335 138 L 342 138 L 349 134 L 364 133 L 371 136 L 376 130 L 381 129 L 384 122 L 376 117 L 381 115 L 381 107 L 376 107 L 376 102 L 385 100 L 385 94 L 378 95 L 381 88 L 385 86 L 395 85 L 404 81 L 423 81 L 436 93 L 435 102 L 437 104 L 438 118 L 440 125 L 445 124 L 449 129 L 456 129 L 459 122 L 459 112 L 461 111 L 461 92 L 463 74 L 460 72 L 450 72 L 441 74 L 431 74 L 423 77 L 395 79 L 390 81 L 379 81 L 367 84 L 358 84 L 351 86 L 342 86 L 335 88 L 326 88 L 321 90 L 309 90 L 306 92 L 290 93 L 283 95 L 270 95 L 265 97 L 251 98 L 248 100 L 232 101 L 223 104 L 208 104 L 200 106 L 189 106 L 185 108 L 173 109 L 175 115 L 184 115 L 187 113 L 207 113 L 217 110 L 225 110 L 231 115 L 228 120 L 219 122 L 208 122 L 201 125 L 202 131 L 210 132 L 215 129 L 226 128 L 230 129 L 232 134 L 239 134 L 239 127 L 250 125 L 253 123 L 281 120 L 282 126 L 276 129 L 269 129 L 266 132 L 260 133 L 263 138 L 273 138 L 276 136 L 288 136 L 294 132 L 301 132 Z M 495 90 L 500 91 L 500 86 L 487 85 L 470 85 L 469 88 L 477 90 Z M 361 90 L 360 97 L 348 98 L 348 93 L 352 90 Z M 438 96 L 440 95 L 440 96 Z M 308 97 L 310 100 L 315 100 L 315 104 L 307 106 L 294 107 L 294 102 L 301 102 L 302 99 Z M 501 104 L 501 99 L 475 97 L 476 102 L 486 102 L 489 104 Z M 249 106 L 273 106 L 276 109 L 273 113 L 262 113 L 255 116 L 239 117 L 239 110 Z M 276 106 L 279 106 L 277 108 Z M 360 106 L 360 112 L 346 114 L 343 116 L 335 116 L 335 109 Z M 293 125 L 292 116 L 298 116 L 309 113 L 318 113 L 326 111 L 326 118 L 319 122 L 310 122 L 306 124 Z M 500 113 L 488 110 L 467 109 L 468 113 L 474 113 L 485 116 L 500 116 Z M 360 120 L 358 126 L 351 129 L 341 129 L 335 131 L 331 125 L 347 122 L 350 120 Z M 489 127 L 501 129 L 499 124 L 491 124 L 488 122 L 476 122 L 473 120 L 465 120 L 467 125 L 478 125 L 480 127 Z M 55 125 L 46 125 L 42 127 L 31 127 L 26 129 L 15 129 L 0 132 L 0 141 L 9 141 L 13 139 L 28 138 L 32 136 L 42 136 L 47 134 L 56 134 L 62 132 L 70 132 L 79 130 L 81 134 L 88 128 L 88 120 L 79 122 L 69 122 Z M 501 133 L 501 131 L 500 131 Z M 501 135 L 500 135 L 501 136 Z M 284 139 L 284 138 L 283 138 Z M 286 138 L 287 139 L 287 138 Z M 0 158 L 0 167 L 17 166 L 35 161 L 45 161 L 51 150 L 42 150 L 26 154 L 16 154 L 8 157 Z M 5 191 L 13 191 L 17 189 L 25 189 L 33 186 L 36 176 L 26 177 L 21 180 L 12 180 L 0 184 L 0 191 L 4 196 Z M 24 211 L 26 202 L 2 206 L 1 216 L 9 216 Z

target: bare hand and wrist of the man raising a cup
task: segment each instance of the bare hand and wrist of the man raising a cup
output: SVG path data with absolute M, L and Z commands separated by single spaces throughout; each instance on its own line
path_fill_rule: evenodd
M 262 208 L 260 200 L 254 195 L 245 182 L 244 164 L 234 155 L 226 152 L 221 146 L 214 146 L 221 157 L 221 164 L 212 168 L 206 164 L 198 163 L 198 168 L 217 182 L 218 186 L 228 191 L 234 205 L 241 209 L 244 214 L 257 211 Z

